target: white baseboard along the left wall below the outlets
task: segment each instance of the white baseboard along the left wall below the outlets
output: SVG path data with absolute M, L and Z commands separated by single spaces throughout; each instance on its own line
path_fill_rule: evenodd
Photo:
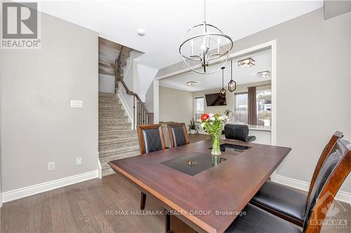
M 46 192 L 49 190 L 55 190 L 56 188 L 61 188 L 67 185 L 73 185 L 74 183 L 80 183 L 83 181 L 88 181 L 93 178 L 98 178 L 98 170 L 89 171 L 75 176 L 60 178 L 58 180 L 49 181 L 46 183 L 39 183 L 38 185 L 32 185 L 25 188 L 19 188 L 18 190 L 2 192 L 2 201 L 4 203 L 11 202 L 15 199 L 36 195 L 38 193 Z

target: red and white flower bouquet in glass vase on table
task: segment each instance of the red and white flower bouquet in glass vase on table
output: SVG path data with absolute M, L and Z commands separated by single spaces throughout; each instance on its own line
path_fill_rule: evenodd
M 199 119 L 200 126 L 211 135 L 212 138 L 212 155 L 220 155 L 220 134 L 224 129 L 225 124 L 228 122 L 228 117 L 221 113 L 204 113 Z

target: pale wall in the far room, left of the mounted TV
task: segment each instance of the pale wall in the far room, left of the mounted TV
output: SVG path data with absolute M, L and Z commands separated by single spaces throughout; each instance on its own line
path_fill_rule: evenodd
M 159 121 L 185 122 L 192 120 L 192 92 L 159 87 Z

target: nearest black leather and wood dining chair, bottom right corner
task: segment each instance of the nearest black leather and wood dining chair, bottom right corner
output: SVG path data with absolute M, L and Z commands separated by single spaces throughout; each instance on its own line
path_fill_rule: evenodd
M 319 233 L 321 231 L 329 207 L 340 186 L 350 174 L 350 170 L 351 144 L 343 139 L 338 139 L 336 150 L 329 157 L 326 157 L 307 199 L 303 218 L 304 233 Z M 248 204 L 244 211 L 246 214 L 235 218 L 225 232 L 300 233 L 298 228 L 293 227 L 286 220 L 278 218 L 253 204 Z

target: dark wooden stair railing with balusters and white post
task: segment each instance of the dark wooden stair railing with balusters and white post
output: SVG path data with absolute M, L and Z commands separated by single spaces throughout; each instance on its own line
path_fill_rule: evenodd
M 130 57 L 131 49 L 128 47 L 121 46 L 121 52 L 115 60 L 115 64 L 111 64 L 114 69 L 114 76 L 116 79 L 116 87 L 121 83 L 122 87 L 126 90 L 126 94 L 133 96 L 133 127 L 136 125 L 149 125 L 154 123 L 154 113 L 147 111 L 147 108 L 143 101 L 140 99 L 138 94 L 129 90 L 126 83 L 124 83 L 125 72 L 124 69 L 128 65 L 128 59 Z M 136 113 L 136 114 L 135 114 Z M 136 115 L 136 118 L 135 118 Z

